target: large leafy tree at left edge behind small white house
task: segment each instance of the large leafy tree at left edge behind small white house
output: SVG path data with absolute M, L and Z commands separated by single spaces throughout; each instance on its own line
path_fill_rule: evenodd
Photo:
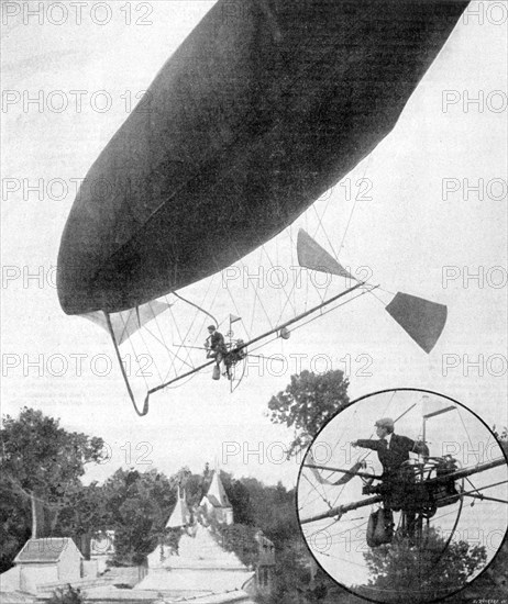
M 82 489 L 86 465 L 102 460 L 104 452 L 101 438 L 67 432 L 58 420 L 27 407 L 18 418 L 3 418 L 0 443 L 0 526 L 8 537 L 0 558 L 5 570 L 27 537 L 57 536 L 59 514 Z

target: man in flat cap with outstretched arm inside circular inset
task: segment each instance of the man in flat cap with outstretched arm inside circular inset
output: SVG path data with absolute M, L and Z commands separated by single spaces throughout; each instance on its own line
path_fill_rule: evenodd
M 409 537 L 412 537 L 417 512 L 415 474 L 405 462 L 409 460 L 410 452 L 429 457 L 429 447 L 422 441 L 395 434 L 391 417 L 383 417 L 374 425 L 378 440 L 360 439 L 351 445 L 377 451 L 383 466 L 383 483 L 378 488 L 372 488 L 372 492 L 378 492 L 383 496 L 386 510 L 402 510 L 406 513 L 406 528 Z

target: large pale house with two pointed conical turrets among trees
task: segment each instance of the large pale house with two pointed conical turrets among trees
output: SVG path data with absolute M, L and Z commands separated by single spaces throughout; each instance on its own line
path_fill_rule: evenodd
M 257 544 L 253 566 L 224 546 L 219 527 L 228 530 L 234 524 L 233 507 L 219 471 L 206 471 L 208 486 L 199 507 L 189 512 L 185 493 L 178 499 L 166 529 L 173 539 L 161 543 L 148 555 L 148 573 L 135 585 L 137 593 L 161 593 L 165 602 L 187 599 L 192 602 L 252 602 L 254 594 L 269 593 L 275 566 L 274 544 L 259 530 L 251 547 Z M 207 480 L 208 479 L 208 480 Z M 233 526 L 231 526 L 234 529 Z

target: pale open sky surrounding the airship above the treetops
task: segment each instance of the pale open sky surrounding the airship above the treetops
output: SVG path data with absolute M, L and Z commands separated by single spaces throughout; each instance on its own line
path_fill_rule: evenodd
M 120 465 L 172 473 L 209 461 L 286 486 L 298 473 L 298 462 L 280 456 L 292 433 L 270 423 L 267 402 L 301 369 L 342 369 L 352 400 L 429 389 L 490 426 L 508 423 L 506 4 L 472 3 L 394 131 L 316 204 L 324 230 L 310 209 L 268 244 L 266 257 L 239 262 L 239 272 L 228 273 L 235 276 L 234 304 L 223 276 L 210 290 L 209 282 L 188 290 L 195 300 L 219 292 L 219 321 L 239 314 L 259 333 L 267 317 L 255 305 L 252 276 L 265 269 L 259 298 L 269 317 L 278 315 L 284 292 L 267 277 L 267 258 L 287 270 L 296 230 L 307 227 L 340 249 L 344 266 L 380 283 L 385 303 L 404 291 L 445 304 L 448 323 L 432 353 L 365 295 L 259 350 L 285 361 L 251 359 L 233 394 L 205 372 L 154 395 L 143 418 L 107 334 L 59 307 L 56 258 L 77 182 L 212 3 L 89 2 L 80 14 L 73 3 L 56 4 L 34 14 L 38 2 L 2 3 L 2 414 L 27 405 L 67 429 L 102 436 L 111 457 L 87 480 L 103 480 Z M 322 293 L 308 289 L 291 293 L 299 309 Z

